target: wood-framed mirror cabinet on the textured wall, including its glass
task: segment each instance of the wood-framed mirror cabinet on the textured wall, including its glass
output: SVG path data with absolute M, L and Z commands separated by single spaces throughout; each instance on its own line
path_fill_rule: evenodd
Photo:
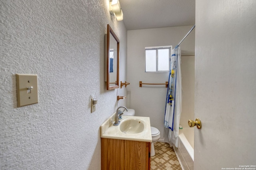
M 119 88 L 119 39 L 108 24 L 105 34 L 105 82 L 107 90 Z

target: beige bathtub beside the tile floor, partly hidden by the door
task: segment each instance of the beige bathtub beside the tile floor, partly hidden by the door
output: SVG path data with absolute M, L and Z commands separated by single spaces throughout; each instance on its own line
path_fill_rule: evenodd
M 179 129 L 178 148 L 174 150 L 182 170 L 194 170 L 194 128 Z

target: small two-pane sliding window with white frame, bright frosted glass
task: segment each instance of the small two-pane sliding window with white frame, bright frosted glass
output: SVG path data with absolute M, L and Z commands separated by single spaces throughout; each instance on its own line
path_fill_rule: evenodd
M 146 72 L 168 72 L 170 68 L 170 53 L 172 46 L 146 47 Z

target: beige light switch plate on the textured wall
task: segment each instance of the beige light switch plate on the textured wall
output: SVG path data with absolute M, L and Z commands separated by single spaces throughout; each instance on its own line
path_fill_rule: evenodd
M 38 103 L 37 75 L 16 74 L 16 82 L 18 107 Z

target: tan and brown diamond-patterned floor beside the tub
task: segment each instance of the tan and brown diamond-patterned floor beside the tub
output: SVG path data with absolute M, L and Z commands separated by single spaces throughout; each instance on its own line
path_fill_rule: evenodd
M 180 162 L 168 143 L 155 143 L 155 156 L 151 156 L 151 170 L 182 170 Z

